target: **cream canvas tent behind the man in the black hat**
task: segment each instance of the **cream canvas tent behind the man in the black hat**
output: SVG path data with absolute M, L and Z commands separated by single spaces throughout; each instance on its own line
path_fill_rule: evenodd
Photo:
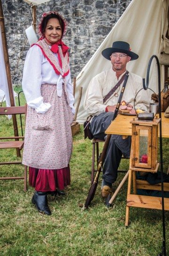
M 146 77 L 147 65 L 152 55 L 159 54 L 161 34 L 168 26 L 169 0 L 132 0 L 118 22 L 112 28 L 100 47 L 77 76 L 75 102 L 78 88 L 83 87 L 83 95 L 77 114 L 77 121 L 83 123 L 87 113 L 84 111 L 84 96 L 92 77 L 111 68 L 109 60 L 101 55 L 101 51 L 111 47 L 113 41 L 127 41 L 131 50 L 139 55 L 138 60 L 129 62 L 127 69 L 135 74 Z M 167 15 L 166 15 L 167 14 Z M 167 19 L 164 21 L 164 17 Z M 158 91 L 157 65 L 152 63 L 150 88 Z M 168 64 L 169 65 L 169 64 Z M 164 83 L 164 66 L 161 65 L 161 87 Z M 150 90 L 149 90 L 150 91 Z M 151 95 L 150 91 L 150 95 Z M 75 104 L 76 105 L 76 104 Z

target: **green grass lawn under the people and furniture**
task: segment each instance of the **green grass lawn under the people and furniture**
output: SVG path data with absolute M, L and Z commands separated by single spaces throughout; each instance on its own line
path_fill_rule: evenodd
M 24 104 L 23 96 L 21 102 Z M 13 132 L 12 121 L 0 117 L 0 136 L 9 132 Z M 168 149 L 169 140 L 163 139 L 164 171 L 169 166 Z M 1 159 L 16 159 L 15 150 L 2 151 Z M 91 206 L 82 211 L 80 205 L 90 188 L 91 161 L 92 143 L 84 140 L 81 126 L 73 138 L 71 185 L 65 197 L 48 198 L 51 216 L 38 213 L 31 204 L 34 189 L 28 187 L 24 192 L 23 180 L 0 181 L 0 256 L 157 256 L 161 252 L 161 211 L 131 208 L 130 225 L 127 229 L 124 226 L 127 183 L 114 206 L 107 208 L 100 198 L 100 177 Z M 123 159 L 120 167 L 128 166 L 129 161 Z M 16 173 L 22 175 L 23 167 L 0 166 L 0 176 Z M 123 175 L 118 175 L 115 188 Z M 169 212 L 166 212 L 167 248 L 168 230 Z

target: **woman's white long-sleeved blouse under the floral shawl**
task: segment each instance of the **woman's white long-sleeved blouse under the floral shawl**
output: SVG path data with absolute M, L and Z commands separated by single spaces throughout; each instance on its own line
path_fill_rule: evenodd
M 51 47 L 51 46 L 49 46 Z M 54 53 L 58 60 L 57 53 Z M 75 114 L 73 86 L 71 84 L 70 72 L 65 77 L 67 82 L 67 91 L 69 96 L 69 106 L 72 113 Z M 28 106 L 36 109 L 37 113 L 44 114 L 51 104 L 43 101 L 40 92 L 41 84 L 49 83 L 57 85 L 57 95 L 61 97 L 63 77 L 55 73 L 54 68 L 48 62 L 46 57 L 37 45 L 30 48 L 26 55 L 24 68 L 23 68 L 23 92 Z

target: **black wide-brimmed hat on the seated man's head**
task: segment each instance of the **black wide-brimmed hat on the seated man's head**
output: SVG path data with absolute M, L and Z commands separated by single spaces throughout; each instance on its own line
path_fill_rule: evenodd
M 114 52 L 122 52 L 126 53 L 131 57 L 131 60 L 135 60 L 138 58 L 138 55 L 130 50 L 130 45 L 127 42 L 123 41 L 115 41 L 110 48 L 106 48 L 101 52 L 104 58 L 110 60 L 110 56 Z

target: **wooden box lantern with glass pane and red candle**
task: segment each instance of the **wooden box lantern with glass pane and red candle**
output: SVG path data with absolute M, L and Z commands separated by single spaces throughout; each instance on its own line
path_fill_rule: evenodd
M 152 121 L 134 118 L 132 124 L 131 170 L 157 172 L 158 124 L 159 118 Z

